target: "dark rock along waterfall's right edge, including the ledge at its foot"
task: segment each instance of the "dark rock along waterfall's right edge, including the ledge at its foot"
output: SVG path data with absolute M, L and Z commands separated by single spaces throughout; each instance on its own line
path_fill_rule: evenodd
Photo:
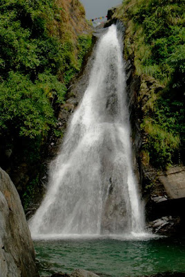
M 135 172 L 138 174 L 142 193 L 146 200 L 146 221 L 154 233 L 173 235 L 183 233 L 185 226 L 185 167 L 173 166 L 166 172 L 146 166 L 141 157 L 144 134 L 139 127 L 142 111 L 138 105 L 137 94 L 141 79 L 134 76 L 133 61 L 126 62 L 127 91 L 132 125 Z M 150 82 L 149 82 L 150 81 Z M 153 80 L 146 80 L 148 87 L 154 86 Z M 155 86 L 155 89 L 161 89 Z M 144 101 L 142 102 L 144 105 Z

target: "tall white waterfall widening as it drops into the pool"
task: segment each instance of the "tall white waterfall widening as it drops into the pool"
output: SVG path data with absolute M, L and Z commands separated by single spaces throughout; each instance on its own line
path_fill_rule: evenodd
M 144 231 L 120 41 L 115 25 L 99 40 L 88 89 L 50 170 L 46 198 L 30 222 L 34 237 Z

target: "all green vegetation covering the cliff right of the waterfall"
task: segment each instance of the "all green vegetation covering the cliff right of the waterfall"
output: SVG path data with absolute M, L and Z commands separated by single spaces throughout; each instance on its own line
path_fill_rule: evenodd
M 127 24 L 125 55 L 142 80 L 143 155 L 166 168 L 184 154 L 185 1 L 125 0 L 118 14 Z

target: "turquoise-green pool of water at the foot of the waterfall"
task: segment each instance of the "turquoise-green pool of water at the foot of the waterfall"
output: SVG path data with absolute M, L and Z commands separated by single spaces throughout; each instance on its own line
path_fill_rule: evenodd
M 41 276 L 81 268 L 104 276 L 185 272 L 185 239 L 64 239 L 35 241 Z

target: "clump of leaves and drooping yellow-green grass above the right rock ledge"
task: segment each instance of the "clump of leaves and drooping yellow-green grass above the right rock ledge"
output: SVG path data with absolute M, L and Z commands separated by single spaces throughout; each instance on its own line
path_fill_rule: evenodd
M 171 103 L 169 99 L 159 98 L 155 105 L 153 117 L 144 118 L 142 123 L 148 134 L 143 150 L 148 153 L 153 166 L 166 168 L 173 161 L 178 162 L 177 150 L 183 143 L 179 133 L 185 137 L 184 111 L 181 102 Z

